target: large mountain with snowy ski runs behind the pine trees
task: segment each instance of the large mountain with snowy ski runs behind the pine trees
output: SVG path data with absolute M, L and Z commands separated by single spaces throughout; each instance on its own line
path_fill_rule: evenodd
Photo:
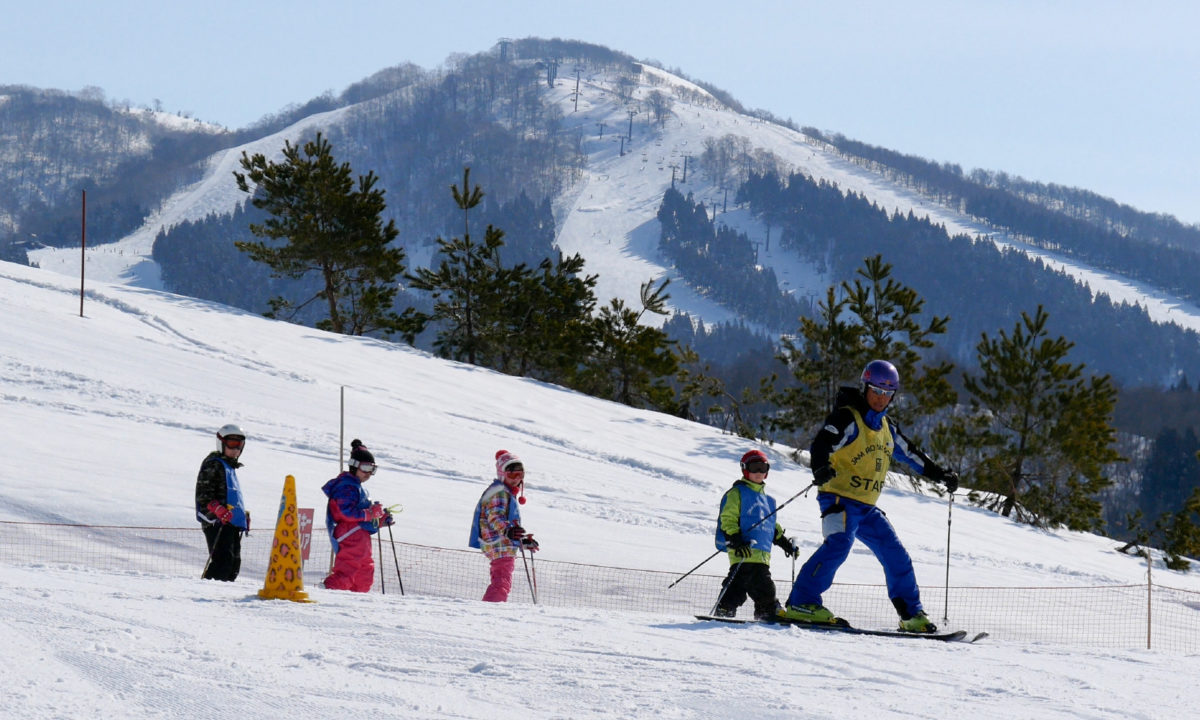
M 324 112 L 311 112 L 317 109 Z M 246 218 L 233 215 L 246 198 L 230 173 L 242 151 L 278 157 L 284 140 L 324 131 L 338 160 L 380 176 L 414 264 L 430 260 L 434 236 L 460 229 L 446 187 L 469 164 L 473 180 L 496 203 L 521 193 L 535 204 L 551 203 L 557 246 L 587 259 L 586 270 L 599 275 L 601 301 L 622 298 L 636 306 L 641 284 L 666 276 L 674 281 L 671 306 L 695 320 L 793 331 L 794 325 L 748 310 L 761 305 L 757 299 L 730 302 L 744 280 L 740 270 L 722 278 L 714 265 L 700 278 L 664 256 L 655 215 L 674 186 L 715 227 L 752 248 L 754 262 L 770 269 L 775 292 L 802 312 L 829 284 L 852 278 L 864 257 L 882 252 L 898 278 L 929 300 L 928 312 L 950 316 L 940 350 L 962 365 L 973 364 L 982 332 L 1012 329 L 1019 313 L 1038 304 L 1050 314 L 1051 331 L 1076 343 L 1078 361 L 1122 384 L 1172 385 L 1200 364 L 1194 332 L 1200 308 L 1187 299 L 1190 283 L 1156 280 L 1152 271 L 1190 265 L 1193 239 L 1178 223 L 1109 206 L 1115 204 L 1088 193 L 1004 175 L 964 176 L 787 127 L 766 113 L 746 113 L 718 89 L 607 48 L 527 38 L 448 71 L 392 68 L 304 112 L 209 156 L 199 180 L 166 197 L 142 227 L 90 251 L 90 276 L 264 310 L 280 288 L 229 246 L 230 239 L 248 236 Z M 776 209 L 761 192 L 738 202 L 756 173 L 778 174 L 793 194 L 803 190 L 797 184 L 811 184 L 809 193 L 823 199 L 804 211 Z M 818 192 L 822 187 L 836 194 Z M 1046 227 L 1057 229 L 1039 235 L 1046 218 L 1031 208 L 1058 211 L 1050 205 L 1061 214 Z M 1092 236 L 1080 229 L 1080 223 L 1092 227 L 1082 217 L 1109 221 Z M 1080 236 L 1078 247 L 1064 245 L 1068 221 L 1076 223 L 1069 228 L 1072 238 Z M 67 239 L 58 244 L 70 245 Z M 166 278 L 154 259 L 156 240 L 157 257 L 173 263 Z M 1124 247 L 1123 254 L 1090 250 L 1102 240 Z M 1130 258 L 1153 253 L 1166 254 L 1150 268 L 1140 262 L 1134 268 Z M 68 275 L 78 274 L 77 256 L 49 247 L 30 254 Z M 193 264 L 199 257 L 209 260 L 204 270 Z M 1126 276 L 1122 266 L 1135 272 Z M 221 282 L 212 278 L 217 272 Z M 714 287 L 713 274 L 730 287 Z

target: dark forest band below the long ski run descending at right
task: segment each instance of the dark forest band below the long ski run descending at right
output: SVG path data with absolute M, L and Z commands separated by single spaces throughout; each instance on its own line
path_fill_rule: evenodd
M 1105 295 L 1093 300 L 1075 280 L 986 239 L 950 238 L 925 218 L 889 215 L 862 196 L 803 174 L 754 175 L 737 198 L 780 228 L 782 246 L 838 281 L 852 277 L 864 258 L 882 254 L 930 312 L 950 316 L 940 344 L 958 362 L 972 361 L 980 332 L 1007 328 L 1040 304 L 1051 330 L 1075 342 L 1072 358 L 1122 385 L 1170 385 L 1200 367 L 1195 332 L 1153 323 L 1145 310 Z

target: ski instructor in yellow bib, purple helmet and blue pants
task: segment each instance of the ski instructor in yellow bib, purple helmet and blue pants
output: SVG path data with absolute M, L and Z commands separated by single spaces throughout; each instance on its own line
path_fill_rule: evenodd
M 936 632 L 925 616 L 912 559 L 900 544 L 883 511 L 875 506 L 896 460 L 954 492 L 959 475 L 938 467 L 887 418 L 888 406 L 900 390 L 900 373 L 887 360 L 872 360 L 863 368 L 858 388 L 841 388 L 835 409 L 812 439 L 812 484 L 821 505 L 824 542 L 804 563 L 787 607 L 780 616 L 790 620 L 844 624 L 821 604 L 821 594 L 854 545 L 862 540 L 883 565 L 888 598 L 900 613 L 900 630 Z

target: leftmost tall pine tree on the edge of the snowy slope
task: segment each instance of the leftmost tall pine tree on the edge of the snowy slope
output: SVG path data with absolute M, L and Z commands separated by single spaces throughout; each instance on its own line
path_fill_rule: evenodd
M 383 223 L 386 204 L 374 173 L 359 175 L 355 187 L 349 163 L 337 164 L 320 133 L 302 148 L 284 142 L 282 163 L 242 152 L 241 167 L 245 173 L 234 172 L 238 188 L 253 192 L 251 203 L 270 214 L 250 229 L 271 242 L 238 241 L 236 247 L 269 265 L 275 277 L 317 272 L 322 280 L 320 289 L 299 304 L 272 299 L 268 317 L 288 311 L 290 319 L 310 302 L 324 300 L 329 317 L 317 323 L 323 330 L 395 332 L 395 280 L 404 271 L 404 251 L 390 246 L 400 233 L 395 222 Z

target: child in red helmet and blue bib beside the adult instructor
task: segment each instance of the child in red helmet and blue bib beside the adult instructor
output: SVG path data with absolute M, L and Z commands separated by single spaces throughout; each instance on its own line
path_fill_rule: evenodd
M 796 545 L 784 536 L 774 520 L 775 498 L 763 490 L 770 463 L 758 450 L 742 456 L 742 479 L 721 498 L 716 521 L 716 548 L 730 553 L 730 574 L 721 582 L 721 595 L 714 614 L 732 618 L 738 607 L 754 600 L 755 619 L 767 620 L 781 610 L 775 599 L 775 581 L 770 577 L 770 546 L 794 557 Z

